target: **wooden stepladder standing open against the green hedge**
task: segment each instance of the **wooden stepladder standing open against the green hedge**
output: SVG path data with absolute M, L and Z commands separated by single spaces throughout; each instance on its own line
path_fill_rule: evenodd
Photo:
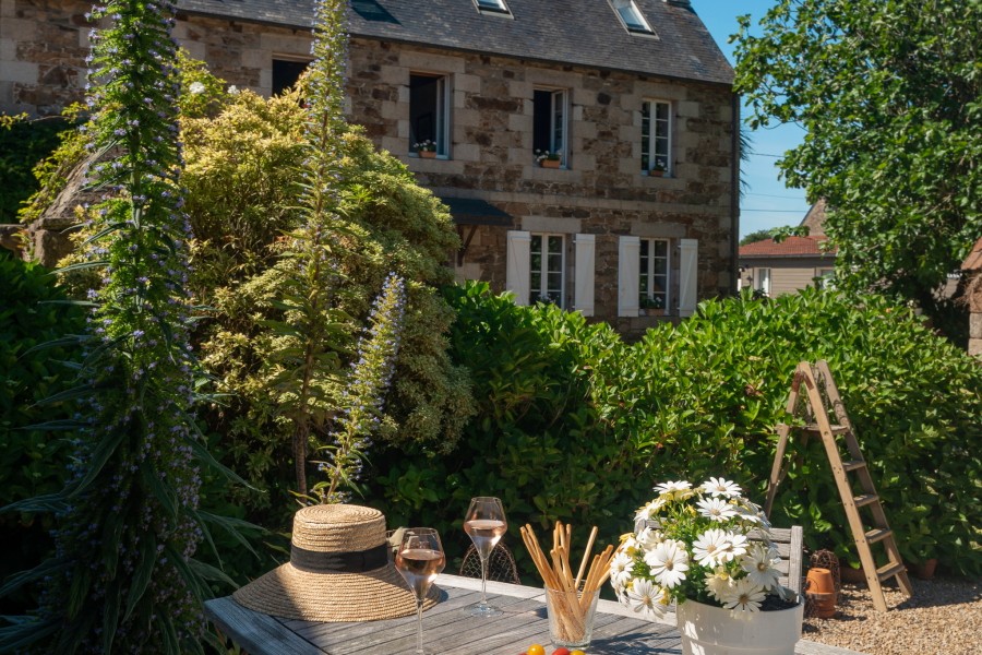
M 802 390 L 802 385 L 804 385 L 804 390 Z M 831 464 L 839 496 L 842 497 L 852 538 L 855 540 L 855 548 L 866 575 L 866 584 L 870 585 L 870 592 L 873 594 L 873 606 L 878 611 L 886 611 L 886 598 L 882 586 L 884 581 L 896 577 L 900 588 L 908 596 L 913 595 L 913 590 L 907 577 L 907 568 L 900 559 L 894 533 L 887 524 L 886 513 L 883 511 L 879 496 L 877 496 L 873 478 L 870 476 L 870 469 L 866 467 L 866 461 L 863 460 L 859 441 L 852 430 L 852 422 L 846 414 L 846 406 L 842 404 L 839 390 L 836 388 L 836 382 L 833 380 L 825 360 L 819 360 L 814 367 L 807 361 L 798 365 L 791 382 L 791 393 L 788 395 L 788 414 L 800 416 L 798 414 L 799 404 L 803 406 L 806 425 L 791 427 L 779 424 L 777 427 L 777 452 L 770 469 L 764 513 L 770 515 L 770 509 L 777 496 L 777 487 L 788 473 L 785 452 L 788 449 L 789 440 L 794 434 L 801 434 L 802 439 L 821 437 L 829 464 Z M 835 422 L 829 420 L 829 407 L 831 407 Z M 845 446 L 845 451 L 842 446 Z M 860 510 L 864 508 L 867 511 L 867 521 L 864 521 L 860 514 Z M 871 549 L 874 544 L 883 544 L 886 549 L 887 563 L 878 569 Z

